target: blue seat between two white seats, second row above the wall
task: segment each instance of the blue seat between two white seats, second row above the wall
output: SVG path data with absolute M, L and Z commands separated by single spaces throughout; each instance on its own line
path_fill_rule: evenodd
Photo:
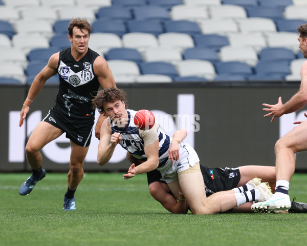
M 142 63 L 140 64 L 142 74 L 162 74 L 171 78 L 178 76 L 178 72 L 171 63 L 164 63 L 161 61 Z

